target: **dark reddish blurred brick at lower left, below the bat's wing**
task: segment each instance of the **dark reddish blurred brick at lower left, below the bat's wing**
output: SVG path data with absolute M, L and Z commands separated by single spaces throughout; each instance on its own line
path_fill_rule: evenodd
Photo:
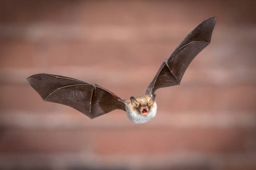
M 61 153 L 90 150 L 86 131 L 2 130 L 0 153 Z

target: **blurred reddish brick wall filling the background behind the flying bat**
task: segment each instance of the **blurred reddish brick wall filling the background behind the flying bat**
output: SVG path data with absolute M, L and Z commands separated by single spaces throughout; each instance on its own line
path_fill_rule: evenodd
M 0 169 L 255 170 L 255 6 L 1 1 Z M 143 95 L 161 62 L 211 16 L 211 44 L 181 85 L 156 91 L 158 112 L 146 124 L 120 110 L 90 120 L 43 102 L 26 82 L 44 72 L 97 83 L 126 99 Z

